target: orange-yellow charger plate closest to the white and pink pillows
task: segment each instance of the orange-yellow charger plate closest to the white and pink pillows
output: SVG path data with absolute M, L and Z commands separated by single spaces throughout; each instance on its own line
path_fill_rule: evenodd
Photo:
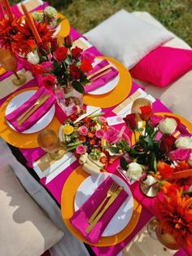
M 85 105 L 100 108 L 110 108 L 116 104 L 120 104 L 120 102 L 127 98 L 132 87 L 132 78 L 129 70 L 117 60 L 104 56 L 99 56 L 97 58 L 108 60 L 111 62 L 111 64 L 114 64 L 120 73 L 120 80 L 114 90 L 111 90 L 104 95 L 84 95 L 83 103 Z

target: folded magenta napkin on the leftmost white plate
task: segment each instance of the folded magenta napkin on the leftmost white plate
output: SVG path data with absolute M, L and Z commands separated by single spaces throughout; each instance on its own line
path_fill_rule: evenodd
M 52 107 L 52 105 L 55 103 L 55 95 L 50 95 L 50 98 L 47 99 L 40 108 L 38 108 L 30 117 L 28 117 L 28 119 L 24 121 L 21 126 L 18 126 L 17 118 L 20 117 L 20 115 L 24 113 L 28 108 L 30 108 L 44 92 L 46 92 L 46 95 L 50 94 L 49 90 L 41 87 L 41 89 L 37 90 L 37 92 L 30 99 L 24 102 L 24 104 L 6 116 L 7 121 L 9 121 L 11 125 L 15 127 L 15 130 L 20 132 L 28 130 L 28 128 L 33 126 Z

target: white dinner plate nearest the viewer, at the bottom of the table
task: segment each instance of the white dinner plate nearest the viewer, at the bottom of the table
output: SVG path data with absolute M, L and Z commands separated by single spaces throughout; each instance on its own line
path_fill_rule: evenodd
M 78 210 L 81 205 L 83 205 L 85 201 L 89 199 L 89 196 L 93 194 L 98 186 L 103 183 L 105 179 L 107 179 L 108 176 L 111 176 L 111 178 L 114 179 L 116 183 L 124 187 L 124 191 L 126 191 L 129 196 L 116 211 L 116 214 L 113 216 L 113 218 L 111 218 L 111 221 L 108 223 L 102 236 L 114 236 L 123 230 L 124 227 L 126 227 L 129 223 L 133 214 L 133 196 L 129 186 L 124 182 L 123 179 L 120 179 L 115 174 L 103 173 L 98 175 L 91 175 L 85 179 L 77 189 L 74 201 L 75 210 Z

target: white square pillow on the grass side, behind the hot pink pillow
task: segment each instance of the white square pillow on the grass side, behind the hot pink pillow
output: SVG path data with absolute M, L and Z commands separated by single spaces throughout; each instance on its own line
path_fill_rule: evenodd
M 85 37 L 103 55 L 132 68 L 147 53 L 171 39 L 172 33 L 121 10 L 85 33 Z

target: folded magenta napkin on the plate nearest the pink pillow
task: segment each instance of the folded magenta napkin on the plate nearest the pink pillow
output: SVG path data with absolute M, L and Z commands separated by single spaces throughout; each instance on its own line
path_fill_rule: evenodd
M 102 60 L 101 62 L 99 62 L 97 65 L 94 66 L 94 69 L 91 70 L 91 73 L 89 73 L 89 74 L 97 72 L 99 69 L 104 68 L 108 64 L 109 63 L 107 60 Z M 105 72 L 105 71 L 103 71 L 103 72 Z M 85 86 L 84 87 L 85 92 L 87 93 L 91 90 L 98 89 L 100 86 L 104 86 L 107 82 L 109 82 L 113 78 L 115 78 L 118 75 L 118 73 L 119 72 L 116 70 L 116 68 L 111 67 L 111 72 L 103 75 L 103 77 L 99 77 L 97 80 L 92 82 L 90 85 Z M 100 75 L 100 73 L 98 75 Z M 97 75 L 95 75 L 95 77 L 97 77 Z M 94 77 L 92 77 L 91 79 L 94 79 Z M 90 82 L 91 82 L 91 79 L 90 79 Z

